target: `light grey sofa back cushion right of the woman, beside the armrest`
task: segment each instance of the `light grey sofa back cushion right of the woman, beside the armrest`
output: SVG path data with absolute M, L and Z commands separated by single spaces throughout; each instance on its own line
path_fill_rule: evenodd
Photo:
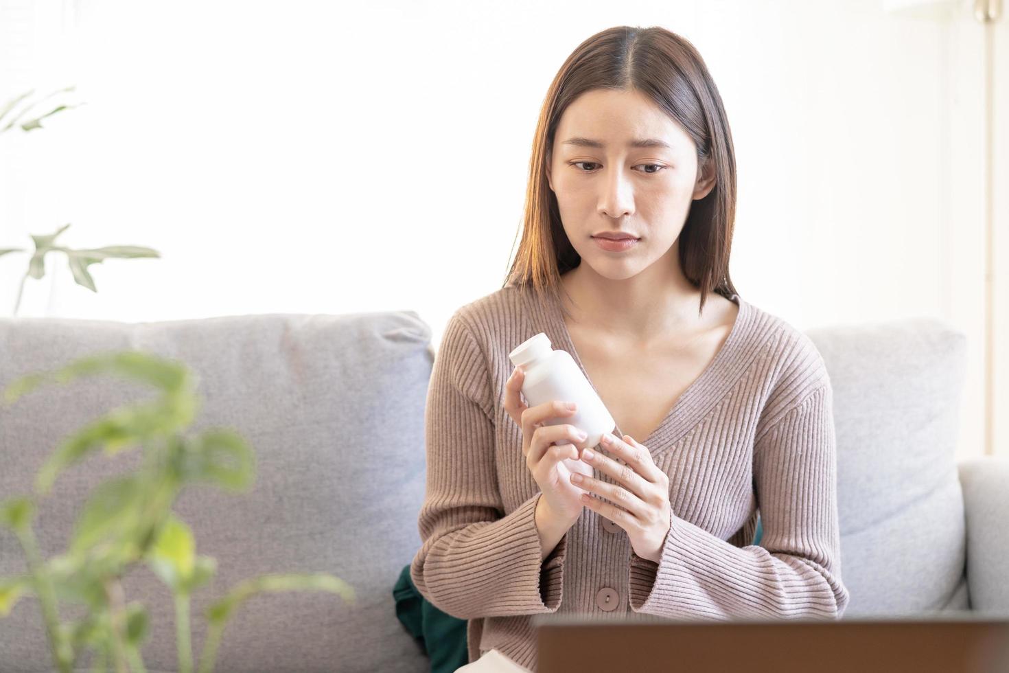
M 806 333 L 834 390 L 844 616 L 968 608 L 956 462 L 966 336 L 933 318 Z

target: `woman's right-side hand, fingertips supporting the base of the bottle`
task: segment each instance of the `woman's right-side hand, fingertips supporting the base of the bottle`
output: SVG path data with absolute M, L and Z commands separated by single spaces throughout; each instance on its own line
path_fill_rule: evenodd
M 581 499 L 590 510 L 627 531 L 631 547 L 638 556 L 658 563 L 669 533 L 669 476 L 652 460 L 648 447 L 639 444 L 631 435 L 624 435 L 621 440 L 606 433 L 599 447 L 626 464 L 589 449 L 582 450 L 581 460 L 613 477 L 618 483 L 582 474 L 572 474 L 571 482 L 589 491 L 582 493 Z

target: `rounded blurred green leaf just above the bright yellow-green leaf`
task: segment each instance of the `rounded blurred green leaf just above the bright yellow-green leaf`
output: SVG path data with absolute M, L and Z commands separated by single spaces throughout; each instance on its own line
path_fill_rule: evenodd
M 255 453 L 237 433 L 214 428 L 191 441 L 183 462 L 183 478 L 211 481 L 244 491 L 255 481 Z

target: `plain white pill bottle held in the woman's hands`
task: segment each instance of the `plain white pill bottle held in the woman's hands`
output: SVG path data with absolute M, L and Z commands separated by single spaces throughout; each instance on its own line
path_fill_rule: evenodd
M 552 401 L 577 405 L 571 416 L 551 419 L 544 425 L 571 424 L 588 435 L 585 439 L 588 447 L 596 446 L 602 435 L 616 428 L 616 422 L 578 363 L 566 350 L 554 350 L 550 337 L 543 332 L 524 341 L 509 357 L 526 373 L 522 394 L 530 407 Z

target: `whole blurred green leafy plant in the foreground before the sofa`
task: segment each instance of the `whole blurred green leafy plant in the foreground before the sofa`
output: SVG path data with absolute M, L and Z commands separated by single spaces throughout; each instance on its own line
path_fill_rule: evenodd
M 183 436 L 199 409 L 194 391 L 198 377 L 184 363 L 140 351 L 85 357 L 52 372 L 24 376 L 8 385 L 5 401 L 12 404 L 44 382 L 66 383 L 101 373 L 148 383 L 160 395 L 152 402 L 117 408 L 71 435 L 39 469 L 34 494 L 0 502 L 0 524 L 17 535 L 28 567 L 26 574 L 0 577 L 0 618 L 10 613 L 21 595 L 33 593 L 60 671 L 71 671 L 85 651 L 95 652 L 93 670 L 105 671 L 111 659 L 116 671 L 144 671 L 140 651 L 147 636 L 147 611 L 138 601 L 126 602 L 121 583 L 132 565 L 144 563 L 175 595 L 178 670 L 188 673 L 193 670 L 190 596 L 213 577 L 217 563 L 213 557 L 196 555 L 193 532 L 172 507 L 187 483 L 248 490 L 255 480 L 255 455 L 240 435 L 227 429 Z M 48 494 L 61 472 L 98 449 L 111 456 L 135 447 L 143 451 L 141 467 L 98 484 L 79 515 L 67 553 L 40 558 L 32 529 L 35 496 Z M 330 591 L 355 602 L 350 585 L 327 573 L 243 580 L 206 612 L 200 672 L 213 671 L 225 624 L 246 598 L 290 590 Z M 62 624 L 60 599 L 86 604 L 87 614 Z

